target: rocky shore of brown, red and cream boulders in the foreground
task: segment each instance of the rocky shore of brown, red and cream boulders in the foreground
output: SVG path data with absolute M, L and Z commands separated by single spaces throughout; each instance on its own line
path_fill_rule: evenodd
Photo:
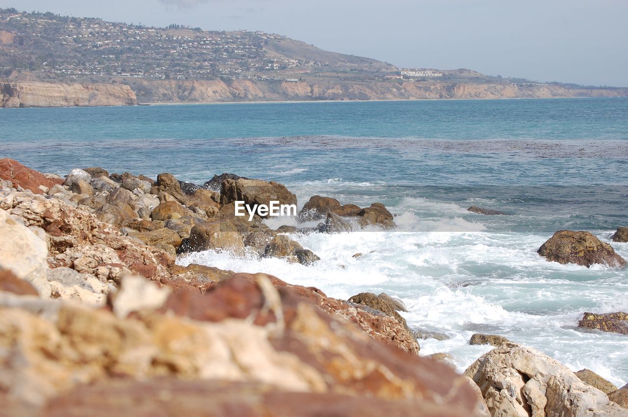
M 310 265 L 318 256 L 289 235 L 396 227 L 381 203 L 313 196 L 298 219 L 317 226 L 273 230 L 235 216 L 235 201 L 296 196 L 234 174 L 205 184 L 98 167 L 59 177 L 0 159 L 3 415 L 628 416 L 628 386 L 504 337 L 474 335 L 495 349 L 464 375 L 445 354 L 419 356 L 427 336 L 385 293 L 338 300 L 272 271 L 176 265 L 203 250 Z M 625 265 L 583 231 L 557 232 L 539 255 Z M 627 323 L 586 312 L 579 325 L 628 334 Z

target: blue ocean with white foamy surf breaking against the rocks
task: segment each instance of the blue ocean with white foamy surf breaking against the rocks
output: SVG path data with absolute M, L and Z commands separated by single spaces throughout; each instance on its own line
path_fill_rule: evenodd
M 291 235 L 320 256 L 309 267 L 214 251 L 178 263 L 398 296 L 411 327 L 448 338 L 419 340 L 421 355 L 450 353 L 459 371 L 489 351 L 468 344 L 480 332 L 628 382 L 628 337 L 576 328 L 584 312 L 628 311 L 628 270 L 536 253 L 570 229 L 628 258 L 610 242 L 628 226 L 627 98 L 19 108 L 0 109 L 0 126 L 0 157 L 43 172 L 232 172 L 285 184 L 299 206 L 382 202 L 398 229 Z

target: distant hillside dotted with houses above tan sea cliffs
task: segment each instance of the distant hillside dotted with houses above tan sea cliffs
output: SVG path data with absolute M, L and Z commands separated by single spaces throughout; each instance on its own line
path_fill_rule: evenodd
M 626 95 L 626 88 L 467 69 L 400 70 L 261 31 L 153 28 L 0 9 L 0 107 Z

